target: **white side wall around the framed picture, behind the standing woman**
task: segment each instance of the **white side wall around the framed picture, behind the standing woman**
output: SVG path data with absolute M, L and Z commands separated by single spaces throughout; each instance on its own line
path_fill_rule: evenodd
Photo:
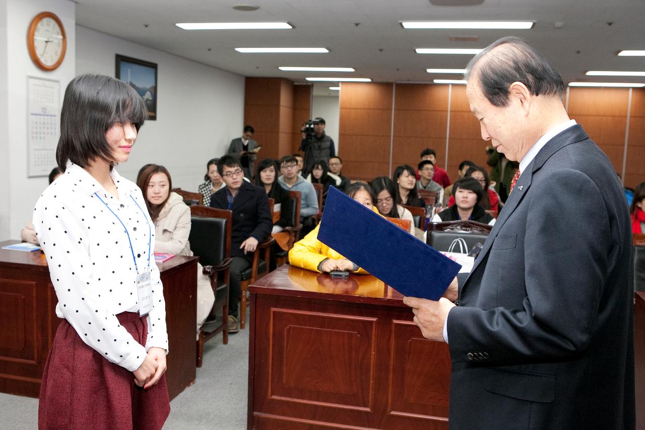
M 119 173 L 134 181 L 144 164 L 161 164 L 173 187 L 196 192 L 208 160 L 242 134 L 244 77 L 83 26 L 76 34 L 77 74 L 114 76 L 115 54 L 157 63 L 157 121 L 143 125 Z

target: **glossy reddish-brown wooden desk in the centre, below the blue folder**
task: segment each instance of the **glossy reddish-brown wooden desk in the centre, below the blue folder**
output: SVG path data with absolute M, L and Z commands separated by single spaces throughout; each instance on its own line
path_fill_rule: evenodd
M 290 265 L 250 291 L 249 429 L 448 428 L 448 345 L 401 294 Z

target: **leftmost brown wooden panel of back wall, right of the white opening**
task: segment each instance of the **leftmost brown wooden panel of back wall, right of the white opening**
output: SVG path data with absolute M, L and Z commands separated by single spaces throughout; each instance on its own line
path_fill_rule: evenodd
M 343 83 L 339 141 L 343 174 L 371 180 L 388 175 L 392 136 L 391 83 Z

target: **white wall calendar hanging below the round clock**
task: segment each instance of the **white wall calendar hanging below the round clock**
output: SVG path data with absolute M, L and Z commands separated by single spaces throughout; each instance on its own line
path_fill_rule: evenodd
M 48 176 L 56 166 L 61 114 L 59 81 L 28 77 L 27 174 Z

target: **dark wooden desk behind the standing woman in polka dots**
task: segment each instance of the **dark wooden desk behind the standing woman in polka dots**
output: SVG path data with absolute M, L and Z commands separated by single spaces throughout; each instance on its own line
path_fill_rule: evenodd
M 0 247 L 19 241 L 3 241 Z M 195 382 L 197 257 L 159 264 L 168 325 L 168 394 Z M 45 255 L 0 249 L 0 392 L 38 397 L 60 318 Z

